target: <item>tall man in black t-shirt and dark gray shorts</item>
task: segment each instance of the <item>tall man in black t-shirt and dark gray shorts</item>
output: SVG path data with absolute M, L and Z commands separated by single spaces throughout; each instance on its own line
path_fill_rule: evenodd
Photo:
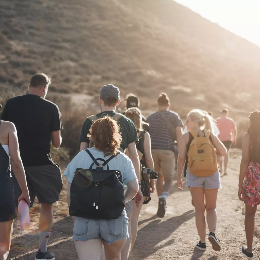
M 50 79 L 45 74 L 31 78 L 29 95 L 9 99 L 1 119 L 15 124 L 21 159 L 25 168 L 30 198 L 41 203 L 39 220 L 40 246 L 35 259 L 55 259 L 47 250 L 53 221 L 52 204 L 59 200 L 62 189 L 61 171 L 50 157 L 50 142 L 59 147 L 62 142 L 59 108 L 45 99 Z M 14 177 L 13 177 L 14 178 Z M 15 197 L 21 190 L 14 178 Z M 31 204 L 31 206 L 32 206 Z

